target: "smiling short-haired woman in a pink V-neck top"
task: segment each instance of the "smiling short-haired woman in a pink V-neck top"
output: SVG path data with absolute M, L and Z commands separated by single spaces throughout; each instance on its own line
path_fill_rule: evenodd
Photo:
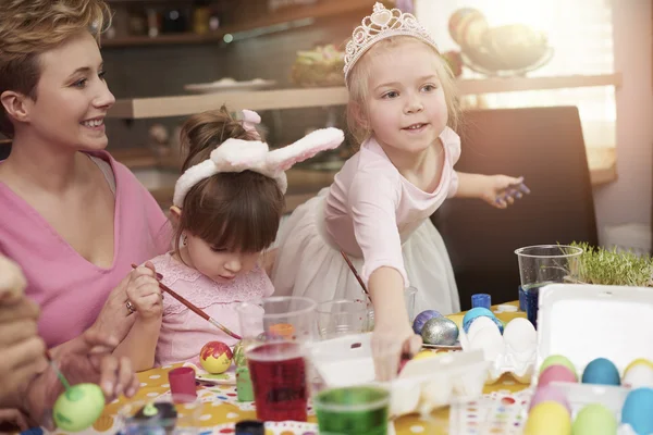
M 122 340 L 137 318 L 131 264 L 170 246 L 155 199 L 104 151 L 114 98 L 98 41 L 109 16 L 102 0 L 0 9 L 0 132 L 13 140 L 0 162 L 0 253 L 23 269 L 56 357 L 87 328 Z

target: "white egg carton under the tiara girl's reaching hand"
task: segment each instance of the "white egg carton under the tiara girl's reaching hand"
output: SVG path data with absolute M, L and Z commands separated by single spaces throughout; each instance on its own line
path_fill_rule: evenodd
M 408 361 L 398 376 L 377 382 L 371 333 L 348 335 L 312 344 L 312 368 L 326 387 L 380 384 L 391 390 L 390 414 L 430 413 L 458 400 L 473 400 L 483 393 L 488 363 L 481 351 L 449 352 Z

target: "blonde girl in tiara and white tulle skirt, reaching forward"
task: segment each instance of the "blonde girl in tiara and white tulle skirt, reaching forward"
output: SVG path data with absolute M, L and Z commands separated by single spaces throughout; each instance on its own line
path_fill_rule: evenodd
M 374 306 L 377 375 L 389 378 L 399 355 L 421 345 L 406 287 L 418 289 L 417 311 L 460 309 L 446 247 L 429 216 L 451 197 L 506 208 L 522 181 L 454 170 L 460 139 L 453 77 L 411 14 L 377 3 L 347 44 L 344 71 L 360 150 L 284 224 L 272 281 L 281 295 L 361 298 L 340 251 L 346 253 Z

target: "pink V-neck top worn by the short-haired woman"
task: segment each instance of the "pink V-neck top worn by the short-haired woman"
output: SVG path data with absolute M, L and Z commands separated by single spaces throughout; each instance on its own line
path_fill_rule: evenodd
M 132 263 L 140 264 L 170 249 L 170 223 L 149 191 L 108 152 L 91 156 L 109 162 L 115 179 L 113 264 L 109 269 L 79 256 L 34 208 L 0 183 L 0 253 L 23 269 L 26 295 L 41 308 L 39 333 L 48 347 L 88 328 Z

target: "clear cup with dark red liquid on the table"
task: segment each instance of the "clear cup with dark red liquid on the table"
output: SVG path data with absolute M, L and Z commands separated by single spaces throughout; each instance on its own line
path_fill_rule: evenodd
M 237 307 L 245 357 L 262 421 L 306 421 L 306 345 L 316 336 L 317 303 L 271 297 Z

